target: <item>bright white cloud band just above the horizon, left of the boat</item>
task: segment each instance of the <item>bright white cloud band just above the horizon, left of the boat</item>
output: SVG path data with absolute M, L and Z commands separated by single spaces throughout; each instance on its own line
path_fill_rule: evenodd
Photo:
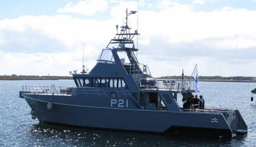
M 88 55 L 88 68 L 95 65 L 96 56 Z M 84 58 L 86 61 L 86 57 Z M 69 71 L 82 69 L 81 51 L 62 53 L 1 53 L 0 75 L 63 75 L 68 76 Z M 84 63 L 86 64 L 86 63 Z

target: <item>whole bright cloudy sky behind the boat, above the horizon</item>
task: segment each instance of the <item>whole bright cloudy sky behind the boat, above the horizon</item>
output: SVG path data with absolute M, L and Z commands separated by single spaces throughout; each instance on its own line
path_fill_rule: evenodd
M 0 75 L 81 71 L 83 43 L 92 69 L 126 8 L 154 77 L 256 76 L 256 0 L 1 0 Z

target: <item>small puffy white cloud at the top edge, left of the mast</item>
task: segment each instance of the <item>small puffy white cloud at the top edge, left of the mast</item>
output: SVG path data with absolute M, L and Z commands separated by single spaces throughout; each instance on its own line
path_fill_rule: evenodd
M 94 15 L 96 12 L 104 12 L 108 9 L 108 1 L 87 0 L 77 4 L 69 2 L 64 8 L 58 9 L 60 13 L 78 13 L 82 15 Z

